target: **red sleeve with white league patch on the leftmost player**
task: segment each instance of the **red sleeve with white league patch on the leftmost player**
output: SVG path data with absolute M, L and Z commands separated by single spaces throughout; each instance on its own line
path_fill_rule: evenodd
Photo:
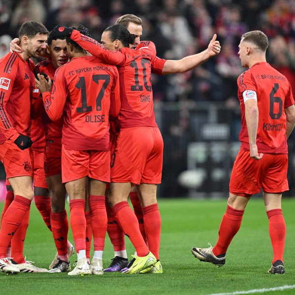
M 10 54 L 5 56 L 0 63 L 0 128 L 6 139 L 11 138 L 11 140 L 15 140 L 19 136 L 6 111 L 6 105 L 17 76 L 16 59 L 16 54 Z

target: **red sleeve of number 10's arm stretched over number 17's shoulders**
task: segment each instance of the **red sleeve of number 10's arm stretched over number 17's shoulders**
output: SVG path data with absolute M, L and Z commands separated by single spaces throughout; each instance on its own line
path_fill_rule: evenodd
M 121 52 L 106 49 L 96 40 L 81 34 L 76 29 L 73 30 L 71 39 L 77 42 L 84 50 L 88 51 L 93 56 L 100 58 L 103 62 L 119 65 L 125 61 L 125 55 Z

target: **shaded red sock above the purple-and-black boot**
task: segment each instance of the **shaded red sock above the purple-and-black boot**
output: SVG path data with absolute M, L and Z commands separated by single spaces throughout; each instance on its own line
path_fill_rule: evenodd
M 111 240 L 111 243 L 114 247 L 114 251 L 119 252 L 119 251 L 126 250 L 125 235 L 123 231 L 121 230 L 120 226 L 118 225 L 113 209 L 109 205 L 107 198 L 106 198 L 105 204 L 106 204 L 107 216 L 108 216 L 107 232 Z

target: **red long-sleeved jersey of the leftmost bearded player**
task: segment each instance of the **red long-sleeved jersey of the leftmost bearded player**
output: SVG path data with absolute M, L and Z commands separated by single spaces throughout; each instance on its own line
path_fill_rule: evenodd
M 18 53 L 0 59 L 0 144 L 30 134 L 34 63 Z

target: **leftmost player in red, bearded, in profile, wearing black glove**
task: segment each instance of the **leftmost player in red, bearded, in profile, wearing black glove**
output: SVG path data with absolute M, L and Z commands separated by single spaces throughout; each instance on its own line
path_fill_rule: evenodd
M 31 96 L 34 64 L 46 47 L 47 29 L 39 22 L 25 22 L 19 33 L 21 54 L 8 53 L 0 60 L 0 160 L 14 191 L 14 200 L 3 215 L 0 230 L 0 270 L 17 273 L 26 261 L 13 265 L 6 257 L 11 238 L 29 211 L 32 190 Z M 47 271 L 44 269 L 43 271 Z

